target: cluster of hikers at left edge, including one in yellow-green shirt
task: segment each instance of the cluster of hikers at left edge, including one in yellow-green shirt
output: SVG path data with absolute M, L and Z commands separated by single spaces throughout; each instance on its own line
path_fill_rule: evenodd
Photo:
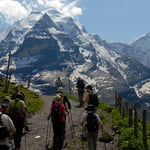
M 0 104 L 0 150 L 9 149 L 10 138 L 12 149 L 20 150 L 23 132 L 29 131 L 26 113 L 25 95 L 15 86 L 12 96 L 5 96 Z

